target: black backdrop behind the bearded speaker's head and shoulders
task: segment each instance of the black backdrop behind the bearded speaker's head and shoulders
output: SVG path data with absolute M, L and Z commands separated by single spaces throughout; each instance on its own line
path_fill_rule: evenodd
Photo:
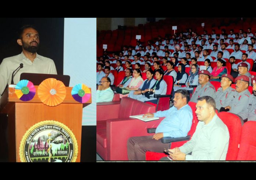
M 64 18 L 0 18 L 0 25 L 0 63 L 21 53 L 17 31 L 24 25 L 33 25 L 40 35 L 38 54 L 54 60 L 57 73 L 63 74 Z

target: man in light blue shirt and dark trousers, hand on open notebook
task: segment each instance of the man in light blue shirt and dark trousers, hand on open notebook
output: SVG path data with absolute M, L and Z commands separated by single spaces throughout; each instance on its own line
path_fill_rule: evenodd
M 146 151 L 163 153 L 171 143 L 162 143 L 163 137 L 183 137 L 188 135 L 192 125 L 192 109 L 188 105 L 190 95 L 187 90 L 177 90 L 174 95 L 174 106 L 165 111 L 146 113 L 147 117 L 165 117 L 156 128 L 153 136 L 138 136 L 128 139 L 127 153 L 129 160 L 145 160 Z

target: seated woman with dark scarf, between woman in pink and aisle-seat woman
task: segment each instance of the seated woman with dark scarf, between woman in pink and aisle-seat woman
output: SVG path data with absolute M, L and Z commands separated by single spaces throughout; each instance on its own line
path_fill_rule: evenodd
M 146 72 L 146 77 L 147 79 L 144 80 L 142 85 L 139 87 L 137 91 L 130 91 L 128 97 L 133 98 L 133 99 L 138 99 L 139 97 L 143 96 L 144 93 L 150 90 L 150 87 L 156 83 L 156 79 L 153 78 L 154 72 L 152 69 L 148 69 Z

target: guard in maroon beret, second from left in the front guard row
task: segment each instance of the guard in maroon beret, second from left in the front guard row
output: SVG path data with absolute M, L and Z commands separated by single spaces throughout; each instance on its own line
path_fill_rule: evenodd
M 220 110 L 221 107 L 225 108 L 226 106 L 230 105 L 231 102 L 237 96 L 237 92 L 230 87 L 234 78 L 230 74 L 223 74 L 221 76 L 221 87 L 218 88 L 216 92 L 215 102 L 216 108 Z

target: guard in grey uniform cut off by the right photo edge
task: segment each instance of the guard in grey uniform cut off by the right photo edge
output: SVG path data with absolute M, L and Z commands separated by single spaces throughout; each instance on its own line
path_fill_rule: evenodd
M 256 121 L 256 76 L 252 75 L 252 94 L 249 97 L 247 111 L 242 113 L 242 117 L 246 117 L 248 121 Z

